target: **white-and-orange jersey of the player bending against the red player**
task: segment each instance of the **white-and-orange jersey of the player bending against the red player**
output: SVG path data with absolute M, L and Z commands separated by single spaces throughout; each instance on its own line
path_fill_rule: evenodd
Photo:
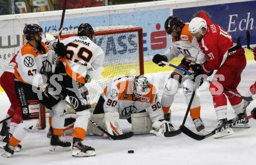
M 189 23 L 182 28 L 179 38 L 172 38 L 172 44 L 163 54 L 168 58 L 168 62 L 182 54 L 186 60 L 193 63 L 204 63 L 206 58 L 199 49 L 198 42 L 189 33 Z

